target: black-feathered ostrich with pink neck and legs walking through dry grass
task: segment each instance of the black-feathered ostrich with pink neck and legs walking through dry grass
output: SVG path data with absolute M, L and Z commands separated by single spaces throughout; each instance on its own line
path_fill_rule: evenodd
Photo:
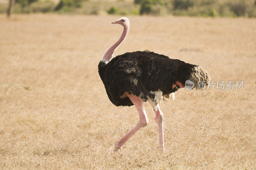
M 186 80 L 197 87 L 198 82 L 207 85 L 210 75 L 202 67 L 170 59 L 148 50 L 127 52 L 113 58 L 116 48 L 124 41 L 129 31 L 129 19 L 120 18 L 112 24 L 120 24 L 124 31 L 119 40 L 104 54 L 98 65 L 100 78 L 109 100 L 116 106 L 132 106 L 138 110 L 139 122 L 115 145 L 118 151 L 140 128 L 148 123 L 143 102 L 149 101 L 155 112 L 159 131 L 159 146 L 164 151 L 163 113 L 159 102 L 164 97 L 174 100 L 174 92 L 183 88 Z M 195 88 L 194 87 L 194 88 Z

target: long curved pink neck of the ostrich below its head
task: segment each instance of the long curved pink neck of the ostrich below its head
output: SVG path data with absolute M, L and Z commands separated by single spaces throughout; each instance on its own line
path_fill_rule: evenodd
M 116 43 L 114 45 L 112 45 L 108 49 L 108 51 L 104 54 L 101 61 L 104 61 L 105 63 L 108 63 L 113 58 L 113 54 L 116 51 L 116 48 L 118 48 L 118 46 L 124 41 L 125 37 L 128 34 L 128 31 L 129 31 L 129 25 L 124 26 L 124 31 L 123 31 L 121 37 L 119 38 L 118 41 L 116 41 Z

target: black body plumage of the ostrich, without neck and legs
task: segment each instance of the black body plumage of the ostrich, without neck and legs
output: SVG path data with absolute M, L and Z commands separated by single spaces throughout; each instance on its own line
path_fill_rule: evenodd
M 195 78 L 191 77 L 195 68 L 198 66 L 148 50 L 117 55 L 109 63 L 100 61 L 98 65 L 108 98 L 116 106 L 133 105 L 128 97 L 121 97 L 124 92 L 147 101 L 155 98 L 151 91 L 160 90 L 163 96 L 167 97 L 170 93 L 176 92 L 180 88 L 178 85 L 172 88 L 176 81 L 182 85 L 185 85 L 186 80 L 197 84 Z M 207 74 L 205 72 L 205 75 L 197 79 L 208 80 L 210 76 Z

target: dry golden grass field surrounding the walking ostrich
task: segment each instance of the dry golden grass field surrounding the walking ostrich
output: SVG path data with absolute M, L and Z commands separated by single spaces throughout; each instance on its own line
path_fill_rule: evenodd
M 120 37 L 120 16 L 0 15 L 0 169 L 253 169 L 256 167 L 256 19 L 128 16 L 114 55 L 145 50 L 204 67 L 212 81 L 243 89 L 187 91 L 160 104 L 119 152 L 139 120 L 116 107 L 98 63 Z M 225 86 L 226 88 L 226 86 Z

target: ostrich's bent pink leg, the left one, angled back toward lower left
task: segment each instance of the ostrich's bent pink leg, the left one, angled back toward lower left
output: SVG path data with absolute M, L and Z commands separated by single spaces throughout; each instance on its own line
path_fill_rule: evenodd
M 145 127 L 148 123 L 148 117 L 146 115 L 146 111 L 144 109 L 143 101 L 134 95 L 127 94 L 129 99 L 132 101 L 132 103 L 135 105 L 135 107 L 138 110 L 140 120 L 138 124 L 131 130 L 129 131 L 124 137 L 122 137 L 118 142 L 116 142 L 115 150 L 118 151 L 124 143 L 132 137 L 132 135 L 137 132 L 140 128 Z

